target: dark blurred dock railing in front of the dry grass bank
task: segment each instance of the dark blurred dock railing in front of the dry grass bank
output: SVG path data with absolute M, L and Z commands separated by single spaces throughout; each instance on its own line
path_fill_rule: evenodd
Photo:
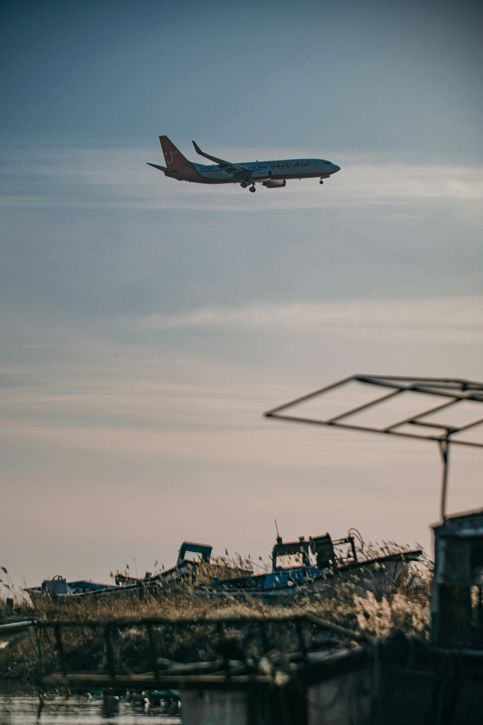
M 274 617 L 171 619 L 162 617 L 108 620 L 32 620 L 38 653 L 38 683 L 47 689 L 110 687 L 125 689 L 246 689 L 283 687 L 300 669 L 316 660 L 327 664 L 340 652 L 361 653 L 371 635 L 326 621 L 312 613 Z M 176 663 L 162 657 L 164 637 L 196 629 L 196 639 L 209 643 L 214 658 Z M 317 639 L 317 633 L 332 635 Z M 143 642 L 146 664 L 126 666 L 119 657 L 122 633 L 131 631 Z M 72 668 L 72 634 L 84 642 L 96 637 L 99 666 Z M 90 636 L 89 636 L 90 633 Z M 234 637 L 235 634 L 235 637 Z M 314 636 L 315 635 L 315 636 Z M 335 639 L 337 638 L 337 639 Z M 287 642 L 290 645 L 287 647 Z M 322 647 L 321 647 L 322 644 Z M 327 646 L 328 645 L 328 646 Z M 321 651 L 322 650 L 322 651 Z M 100 653 L 102 651 L 102 660 Z M 337 654 L 339 653 L 339 654 Z

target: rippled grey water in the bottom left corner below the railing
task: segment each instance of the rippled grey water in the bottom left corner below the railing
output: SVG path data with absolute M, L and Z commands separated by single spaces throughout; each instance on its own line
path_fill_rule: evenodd
M 143 707 L 122 697 L 103 703 L 92 697 L 53 694 L 43 699 L 38 718 L 38 692 L 28 685 L 0 682 L 0 725 L 181 725 L 181 718 Z M 107 707 L 106 707 L 107 705 Z

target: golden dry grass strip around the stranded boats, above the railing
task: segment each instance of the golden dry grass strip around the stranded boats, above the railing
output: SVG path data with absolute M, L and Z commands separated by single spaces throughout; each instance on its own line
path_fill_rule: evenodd
M 387 547 L 387 543 L 385 543 Z M 372 547 L 376 551 L 375 547 Z M 401 548 L 399 547 L 400 551 Z M 381 552 L 381 547 L 377 549 Z M 392 552 L 392 551 L 391 551 Z M 196 593 L 199 584 L 209 584 L 213 576 L 227 579 L 233 572 L 247 573 L 248 560 L 215 560 L 214 564 L 199 565 L 194 576 L 171 592 L 160 590 L 159 595 L 146 594 L 143 599 L 129 591 L 123 595 L 83 597 L 41 597 L 32 604 L 22 589 L 13 592 L 15 614 L 44 619 L 106 620 L 119 618 L 164 617 L 173 621 L 196 618 L 222 618 L 237 616 L 287 616 L 287 613 L 311 612 L 331 618 L 337 624 L 363 629 L 374 634 L 387 634 L 392 629 L 404 629 L 426 634 L 429 626 L 432 560 L 409 563 L 382 597 L 361 590 L 361 582 L 354 575 L 343 584 L 331 585 L 334 596 L 324 598 L 316 592 L 291 597 L 283 604 L 266 604 L 259 598 L 243 600 L 230 597 L 203 597 Z M 378 565 L 376 565 L 378 566 Z M 12 591 L 12 590 L 11 590 Z M 2 600 L 0 594 L 0 603 Z

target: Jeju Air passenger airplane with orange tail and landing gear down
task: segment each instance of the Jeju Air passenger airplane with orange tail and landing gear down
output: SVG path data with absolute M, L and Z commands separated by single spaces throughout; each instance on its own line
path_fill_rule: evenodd
M 330 175 L 340 171 L 340 166 L 324 159 L 284 159 L 280 161 L 249 161 L 232 164 L 230 161 L 218 159 L 201 151 L 198 144 L 193 146 L 200 156 L 204 156 L 214 165 L 205 166 L 188 161 L 167 136 L 159 136 L 166 166 L 151 164 L 155 169 L 164 171 L 164 175 L 178 181 L 193 183 L 239 183 L 243 188 L 256 191 L 255 183 L 266 188 L 285 186 L 287 179 L 319 177 L 320 183 Z

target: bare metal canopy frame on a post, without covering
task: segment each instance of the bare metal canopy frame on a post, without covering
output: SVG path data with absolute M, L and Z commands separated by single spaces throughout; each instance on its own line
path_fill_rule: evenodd
M 379 388 L 389 389 L 384 395 L 378 395 L 373 400 L 365 402 L 364 405 L 350 407 L 348 410 L 339 413 L 332 418 L 324 420 L 319 418 L 306 418 L 300 415 L 286 415 L 284 413 L 288 408 L 295 407 L 310 399 L 322 396 L 324 393 L 340 388 L 350 382 L 358 382 L 366 385 L 372 385 Z M 375 391 L 374 391 L 375 392 Z M 374 408 L 378 404 L 389 400 L 392 397 L 403 395 L 405 392 L 421 393 L 426 395 L 434 395 L 440 398 L 440 402 L 430 408 L 421 410 L 420 413 L 411 415 L 403 420 L 396 420 L 388 426 L 364 426 L 348 423 L 347 418 L 356 413 L 361 413 L 369 408 Z M 442 400 L 441 400 L 442 399 Z M 441 489 L 441 518 L 446 518 L 446 494 L 448 489 L 448 460 L 450 452 L 450 444 L 461 446 L 473 446 L 483 448 L 483 443 L 474 441 L 465 441 L 461 439 L 452 439 L 451 436 L 469 428 L 474 428 L 483 423 L 482 418 L 476 418 L 463 426 L 450 425 L 447 423 L 436 423 L 434 421 L 423 420 L 429 415 L 437 413 L 439 410 L 448 409 L 458 405 L 462 401 L 472 401 L 483 404 L 483 383 L 476 383 L 470 380 L 461 380 L 459 378 L 406 378 L 385 375 L 353 375 L 349 378 L 327 385 L 324 388 L 315 390 L 314 392 L 303 395 L 295 400 L 284 403 L 272 410 L 267 410 L 264 415 L 266 418 L 280 418 L 282 421 L 295 421 L 296 423 L 313 423 L 318 426 L 336 426 L 338 428 L 347 428 L 350 431 L 366 431 L 369 433 L 383 433 L 391 436 L 401 436 L 404 438 L 417 438 L 424 441 L 435 441 L 440 447 L 442 457 L 442 489 Z M 436 402 L 436 401 L 435 401 Z M 483 407 L 482 407 L 483 413 Z M 400 430 L 402 426 L 414 426 L 414 432 L 408 433 Z M 419 426 L 419 427 L 418 427 Z M 426 435 L 424 428 L 439 428 L 441 434 Z

